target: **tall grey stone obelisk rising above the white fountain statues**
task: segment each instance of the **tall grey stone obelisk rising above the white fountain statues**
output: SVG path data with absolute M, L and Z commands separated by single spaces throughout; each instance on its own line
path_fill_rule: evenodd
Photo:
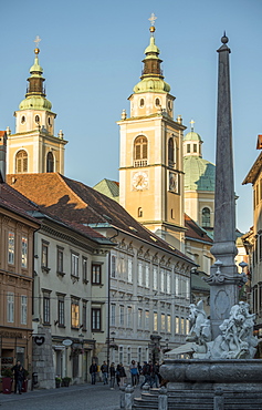
M 214 229 L 212 255 L 216 264 L 211 267 L 210 319 L 212 339 L 219 334 L 219 325 L 229 318 L 230 309 L 239 301 L 239 285 L 242 280 L 238 274 L 234 257 L 235 247 L 235 203 L 232 152 L 232 121 L 229 54 L 229 39 L 221 39 L 218 49 L 218 111 L 217 111 L 217 154 L 216 154 L 216 195 Z

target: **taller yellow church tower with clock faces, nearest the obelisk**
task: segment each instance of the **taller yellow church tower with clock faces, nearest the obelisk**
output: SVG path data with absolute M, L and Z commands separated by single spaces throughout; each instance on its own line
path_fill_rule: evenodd
M 170 85 L 164 81 L 155 43 L 155 16 L 140 81 L 129 96 L 130 117 L 122 113 L 119 203 L 138 222 L 184 250 L 181 117 L 174 121 Z

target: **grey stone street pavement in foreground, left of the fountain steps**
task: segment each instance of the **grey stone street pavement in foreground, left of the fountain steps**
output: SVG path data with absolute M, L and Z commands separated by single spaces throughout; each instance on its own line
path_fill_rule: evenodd
M 34 390 L 22 394 L 0 393 L 0 410 L 118 410 L 119 394 L 118 388 L 111 390 L 102 383 Z

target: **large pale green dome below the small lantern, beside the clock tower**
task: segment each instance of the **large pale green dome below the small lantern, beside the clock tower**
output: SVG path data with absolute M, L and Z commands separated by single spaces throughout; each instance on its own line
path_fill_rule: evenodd
M 211 162 L 199 156 L 185 156 L 184 172 L 185 191 L 214 192 L 216 166 Z

